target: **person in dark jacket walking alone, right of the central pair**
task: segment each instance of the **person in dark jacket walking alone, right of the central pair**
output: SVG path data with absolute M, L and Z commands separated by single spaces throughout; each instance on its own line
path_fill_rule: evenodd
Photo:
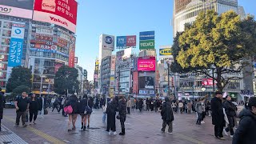
M 170 104 L 170 99 L 168 97 L 165 98 L 165 102 L 162 104 L 162 132 L 165 132 L 166 125 L 169 126 L 168 134 L 173 134 L 173 121 L 174 121 L 174 113 Z

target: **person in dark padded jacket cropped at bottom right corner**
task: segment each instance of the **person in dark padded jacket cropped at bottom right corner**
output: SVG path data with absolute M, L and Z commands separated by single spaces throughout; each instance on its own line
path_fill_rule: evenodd
M 256 143 L 256 98 L 249 100 L 249 109 L 242 110 L 239 114 L 241 118 L 238 129 L 235 131 L 233 144 L 253 144 Z

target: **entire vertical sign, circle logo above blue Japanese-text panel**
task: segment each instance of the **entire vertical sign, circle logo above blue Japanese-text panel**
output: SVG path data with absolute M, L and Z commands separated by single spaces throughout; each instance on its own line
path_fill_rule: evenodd
M 22 64 L 22 48 L 25 24 L 13 23 L 11 38 L 10 38 L 10 52 L 8 58 L 8 66 L 21 66 Z

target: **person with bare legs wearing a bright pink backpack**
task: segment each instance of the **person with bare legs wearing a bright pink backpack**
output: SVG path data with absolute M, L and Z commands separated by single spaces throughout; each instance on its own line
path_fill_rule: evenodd
M 71 106 L 73 111 L 71 114 L 69 114 L 69 122 L 68 122 L 68 132 L 75 130 L 75 122 L 77 121 L 78 118 L 78 98 L 76 97 L 76 95 L 71 95 L 69 98 L 69 101 L 66 102 L 66 106 Z M 65 107 L 66 107 L 65 106 Z M 72 129 L 70 129 L 70 125 L 72 123 Z

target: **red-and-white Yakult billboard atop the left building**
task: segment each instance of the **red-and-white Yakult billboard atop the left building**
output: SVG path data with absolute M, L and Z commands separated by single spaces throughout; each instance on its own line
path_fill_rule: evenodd
M 75 33 L 78 2 L 75 0 L 35 0 L 33 19 L 65 27 Z

